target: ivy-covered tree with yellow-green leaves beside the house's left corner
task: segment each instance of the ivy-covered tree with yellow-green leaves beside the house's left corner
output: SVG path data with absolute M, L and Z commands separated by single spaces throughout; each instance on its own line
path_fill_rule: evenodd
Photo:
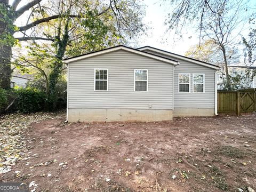
M 127 36 L 135 36 L 143 30 L 141 17 L 138 15 L 141 10 L 135 1 L 113 2 L 109 6 L 101 4 L 101 1 L 52 2 L 53 5 L 55 3 L 53 14 L 65 17 L 42 23 L 34 31 L 34 35 L 48 38 L 52 43 L 32 42 L 27 47 L 28 54 L 19 55 L 16 63 L 20 68 L 36 68 L 45 79 L 47 99 L 53 109 L 57 101 L 55 87 L 65 68 L 63 58 L 125 42 Z M 138 9 L 131 9 L 134 6 L 138 6 Z M 73 12 L 82 16 L 69 17 Z M 137 19 L 133 19 L 134 17 Z

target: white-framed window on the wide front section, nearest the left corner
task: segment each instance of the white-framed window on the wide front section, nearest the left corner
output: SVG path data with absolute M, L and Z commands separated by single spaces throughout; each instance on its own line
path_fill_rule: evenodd
M 94 91 L 108 91 L 108 69 L 94 69 Z

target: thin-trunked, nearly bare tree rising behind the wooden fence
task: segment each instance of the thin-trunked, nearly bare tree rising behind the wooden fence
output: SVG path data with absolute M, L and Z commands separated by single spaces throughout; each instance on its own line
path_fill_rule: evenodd
M 172 2 L 178 5 L 165 22 L 169 26 L 169 30 L 175 27 L 181 30 L 188 25 L 188 22 L 196 23 L 199 39 L 210 39 L 219 47 L 225 65 L 226 89 L 230 90 L 227 47 L 232 47 L 236 43 L 238 35 L 241 34 L 246 22 L 244 13 L 247 11 L 247 2 L 243 0 L 182 0 L 181 2 Z

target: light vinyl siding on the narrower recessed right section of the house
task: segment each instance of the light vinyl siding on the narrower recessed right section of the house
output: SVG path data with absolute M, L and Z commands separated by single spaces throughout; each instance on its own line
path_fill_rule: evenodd
M 169 59 L 179 61 L 180 64 L 174 69 L 174 108 L 214 108 L 215 70 L 192 62 L 159 54 L 154 51 L 145 52 L 160 55 Z M 190 74 L 190 93 L 179 93 L 179 73 Z M 205 74 L 205 92 L 193 93 L 193 73 Z

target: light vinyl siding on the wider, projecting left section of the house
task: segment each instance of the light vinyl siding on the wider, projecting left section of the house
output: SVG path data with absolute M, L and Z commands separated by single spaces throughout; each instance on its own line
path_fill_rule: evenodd
M 173 65 L 127 51 L 72 62 L 68 108 L 172 109 Z M 94 69 L 108 69 L 108 91 L 94 91 Z M 134 69 L 148 69 L 148 91 L 134 92 Z

